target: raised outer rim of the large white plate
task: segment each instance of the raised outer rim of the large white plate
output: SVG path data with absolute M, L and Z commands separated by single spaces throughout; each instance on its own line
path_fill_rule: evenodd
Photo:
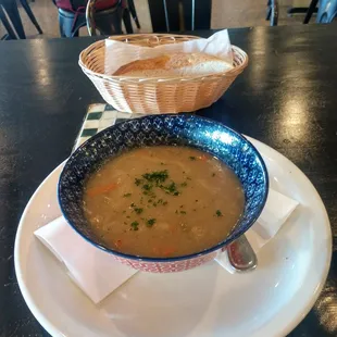
M 272 147 L 267 146 L 266 143 L 257 140 L 252 137 L 248 137 L 246 135 L 244 135 L 249 141 L 251 141 L 253 145 L 258 143 L 258 151 L 260 151 L 259 146 L 262 148 L 267 149 L 269 151 L 274 152 L 276 155 L 278 155 L 279 158 L 282 158 L 283 160 L 285 160 L 286 162 L 288 162 L 296 171 L 298 174 L 301 174 L 304 178 L 305 178 L 305 183 L 311 185 L 312 188 L 315 190 L 316 196 L 319 198 L 319 201 L 321 202 L 322 205 L 322 210 L 324 211 L 324 215 L 326 217 L 326 221 L 324 221 L 324 228 L 325 228 L 325 233 L 326 233 L 326 238 L 328 239 L 328 247 L 327 248 L 327 254 L 326 254 L 326 259 L 325 259 L 325 266 L 324 270 L 322 271 L 322 275 L 320 277 L 320 283 L 316 286 L 316 288 L 314 289 L 314 291 L 312 292 L 312 296 L 310 298 L 308 298 L 308 300 L 305 300 L 305 303 L 303 303 L 302 305 L 302 310 L 300 310 L 298 313 L 296 313 L 296 315 L 294 315 L 294 317 L 288 321 L 287 326 L 285 326 L 282 330 L 276 332 L 276 335 L 278 336 L 286 336 L 287 334 L 289 334 L 297 325 L 300 324 L 300 322 L 307 316 L 307 314 L 310 312 L 310 310 L 313 308 L 314 303 L 316 302 L 320 294 L 323 290 L 323 287 L 326 283 L 326 278 L 329 272 L 329 267 L 330 267 L 330 261 L 332 261 L 332 253 L 333 253 L 333 237 L 332 237 L 332 228 L 330 228 L 330 222 L 329 222 L 329 217 L 328 214 L 326 212 L 325 205 L 322 201 L 322 198 L 320 196 L 320 194 L 317 192 L 317 190 L 315 189 L 315 187 L 313 186 L 313 184 L 310 182 L 310 179 L 307 177 L 307 175 L 295 164 L 292 163 L 289 159 L 287 159 L 284 154 L 282 154 L 280 152 L 278 152 L 277 150 L 273 149 Z M 23 298 L 27 304 L 27 307 L 29 308 L 30 312 L 33 313 L 33 315 L 36 317 L 36 320 L 41 324 L 41 326 L 51 335 L 51 336 L 64 336 L 62 334 L 62 332 L 60 330 L 60 328 L 58 328 L 57 326 L 54 326 L 54 324 L 52 324 L 46 316 L 45 314 L 40 311 L 40 309 L 38 308 L 37 303 L 35 302 L 34 298 L 30 296 L 29 294 L 29 289 L 26 287 L 25 285 L 25 279 L 24 279 L 24 273 L 22 272 L 21 267 L 20 267 L 20 242 L 23 239 L 21 236 L 22 233 L 22 228 L 24 226 L 24 221 L 25 217 L 27 215 L 27 213 L 29 212 L 30 205 L 33 204 L 36 196 L 40 192 L 40 190 L 42 188 L 45 188 L 46 183 L 58 173 L 58 171 L 61 174 L 61 168 L 62 166 L 65 164 L 66 160 L 64 160 L 61 164 L 59 164 L 54 170 L 51 171 L 50 174 L 48 174 L 48 176 L 40 183 L 40 185 L 38 186 L 38 188 L 35 190 L 35 192 L 33 194 L 33 196 L 30 197 L 28 203 L 26 204 L 24 212 L 22 213 L 22 216 L 20 219 L 20 223 L 17 226 L 17 232 L 16 232 L 16 236 L 15 236 L 15 244 L 14 244 L 14 267 L 15 267 L 15 273 L 16 273 L 16 278 L 17 278 L 17 284 L 20 286 L 21 292 L 23 295 Z

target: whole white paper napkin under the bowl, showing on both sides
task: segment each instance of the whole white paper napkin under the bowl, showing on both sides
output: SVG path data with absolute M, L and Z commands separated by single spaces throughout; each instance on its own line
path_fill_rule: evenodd
M 246 233 L 255 252 L 277 234 L 297 205 L 297 201 L 270 190 L 261 216 Z M 35 235 L 64 263 L 68 276 L 95 303 L 99 303 L 137 273 L 83 239 L 62 216 L 37 229 Z M 229 273 L 235 272 L 226 252 L 221 253 L 216 261 Z

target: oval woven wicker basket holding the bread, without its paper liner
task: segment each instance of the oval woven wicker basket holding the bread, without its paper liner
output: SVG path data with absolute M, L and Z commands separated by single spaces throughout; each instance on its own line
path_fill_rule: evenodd
M 199 37 L 187 35 L 138 34 L 109 39 L 155 47 Z M 248 57 L 232 46 L 234 68 L 225 73 L 196 77 L 133 78 L 104 74 L 105 42 L 98 41 L 79 55 L 83 72 L 91 79 L 102 98 L 118 111 L 132 113 L 190 112 L 211 105 L 227 90 L 248 64 Z

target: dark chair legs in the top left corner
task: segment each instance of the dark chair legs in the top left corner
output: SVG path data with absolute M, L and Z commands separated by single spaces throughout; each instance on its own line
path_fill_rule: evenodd
M 41 27 L 39 26 L 36 17 L 33 14 L 33 11 L 27 2 L 27 0 L 20 0 L 23 9 L 25 10 L 25 12 L 27 13 L 28 17 L 30 18 L 30 21 L 33 22 L 33 24 L 35 25 L 37 32 L 39 34 L 43 34 Z M 20 13 L 18 13 L 18 9 L 17 9 L 17 3 L 16 0 L 0 0 L 0 4 L 2 5 L 2 8 L 4 9 L 4 11 L 7 12 L 10 21 L 12 22 L 17 36 L 21 39 L 25 39 L 26 38 L 26 34 L 20 17 Z

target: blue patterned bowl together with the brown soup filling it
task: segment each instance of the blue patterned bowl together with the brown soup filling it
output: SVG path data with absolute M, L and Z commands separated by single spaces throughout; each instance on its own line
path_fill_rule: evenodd
M 267 173 L 255 148 L 195 115 L 150 115 L 90 138 L 59 183 L 64 217 L 134 269 L 167 273 L 216 258 L 260 215 Z

